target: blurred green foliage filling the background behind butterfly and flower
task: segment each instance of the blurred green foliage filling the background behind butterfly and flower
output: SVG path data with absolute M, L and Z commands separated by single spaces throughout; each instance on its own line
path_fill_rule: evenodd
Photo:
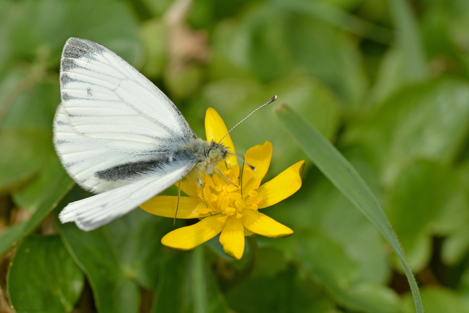
M 469 313 L 466 0 L 0 0 L 0 312 L 415 312 L 389 244 L 311 161 L 263 211 L 295 233 L 249 238 L 241 260 L 217 238 L 167 249 L 172 221 L 139 209 L 60 224 L 89 196 L 52 145 L 69 37 L 135 66 L 201 137 L 207 107 L 230 128 L 277 95 L 378 198 L 425 312 Z M 272 142 L 266 179 L 309 160 L 269 108 L 232 138 L 238 153 Z

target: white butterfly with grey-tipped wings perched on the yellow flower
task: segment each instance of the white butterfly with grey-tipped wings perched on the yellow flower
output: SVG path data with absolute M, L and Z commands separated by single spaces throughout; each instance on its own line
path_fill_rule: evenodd
M 150 80 L 93 41 L 67 40 L 60 84 L 55 149 L 76 183 L 99 193 L 69 203 L 62 223 L 96 229 L 183 178 L 201 182 L 227 158 L 227 148 L 198 138 Z

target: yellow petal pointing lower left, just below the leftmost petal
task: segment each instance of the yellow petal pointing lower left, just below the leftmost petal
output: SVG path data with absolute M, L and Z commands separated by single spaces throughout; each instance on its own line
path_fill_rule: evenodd
M 226 222 L 218 221 L 218 214 L 208 216 L 194 225 L 182 227 L 167 233 L 161 243 L 178 250 L 189 250 L 217 236 Z

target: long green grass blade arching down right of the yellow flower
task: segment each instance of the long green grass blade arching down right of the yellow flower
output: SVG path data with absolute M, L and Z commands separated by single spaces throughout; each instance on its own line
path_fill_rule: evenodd
M 423 313 L 420 292 L 401 245 L 383 209 L 363 178 L 318 130 L 296 115 L 289 107 L 282 105 L 275 109 L 275 114 L 319 170 L 375 225 L 393 247 L 404 267 L 414 297 L 416 312 Z

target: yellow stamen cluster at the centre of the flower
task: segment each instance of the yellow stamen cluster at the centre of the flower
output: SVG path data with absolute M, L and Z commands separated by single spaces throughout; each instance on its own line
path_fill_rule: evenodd
M 203 190 L 208 208 L 199 208 L 198 212 L 201 214 L 221 213 L 218 220 L 224 222 L 231 215 L 241 218 L 244 209 L 257 210 L 262 197 L 258 197 L 255 191 L 259 187 L 260 179 L 253 177 L 254 172 L 250 168 L 244 168 L 241 179 L 238 164 L 235 164 L 233 169 L 223 164 L 220 171 L 230 182 L 239 187 L 228 182 L 219 173 L 214 173 L 213 176 L 205 175 Z M 202 198 L 200 194 L 199 197 Z

